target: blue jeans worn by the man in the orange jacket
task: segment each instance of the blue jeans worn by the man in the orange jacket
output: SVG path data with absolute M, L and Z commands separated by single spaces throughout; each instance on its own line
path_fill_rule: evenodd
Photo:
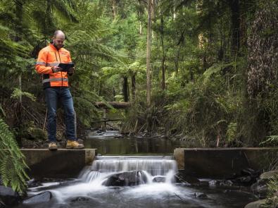
M 47 133 L 49 142 L 56 142 L 57 103 L 61 102 L 65 114 L 65 134 L 67 140 L 75 137 L 75 109 L 69 87 L 49 87 L 44 90 L 47 104 Z

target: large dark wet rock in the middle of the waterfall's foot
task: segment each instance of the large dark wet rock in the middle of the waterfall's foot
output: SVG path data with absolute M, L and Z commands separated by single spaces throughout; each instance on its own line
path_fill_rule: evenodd
M 106 186 L 125 186 L 125 185 L 139 185 L 146 183 L 146 177 L 141 171 L 129 171 L 123 173 L 117 173 L 110 176 L 103 185 Z

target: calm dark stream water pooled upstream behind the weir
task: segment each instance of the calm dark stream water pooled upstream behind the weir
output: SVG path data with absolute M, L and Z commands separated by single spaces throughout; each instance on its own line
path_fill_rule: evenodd
M 189 147 L 189 141 L 165 137 L 120 137 L 117 130 L 97 133 L 89 131 L 86 148 L 96 148 L 99 154 L 172 154 L 177 147 Z

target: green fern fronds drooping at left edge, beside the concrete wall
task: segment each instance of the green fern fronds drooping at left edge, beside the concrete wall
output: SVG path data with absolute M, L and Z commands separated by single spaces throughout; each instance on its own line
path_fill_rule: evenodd
M 27 165 L 24 155 L 20 152 L 13 133 L 8 130 L 6 123 L 0 118 L 0 175 L 4 185 L 10 185 L 18 192 L 25 191 Z

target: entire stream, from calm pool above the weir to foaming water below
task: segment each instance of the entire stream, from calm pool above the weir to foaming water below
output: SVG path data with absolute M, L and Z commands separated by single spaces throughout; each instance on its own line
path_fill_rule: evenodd
M 42 183 L 29 188 L 27 194 L 30 200 L 25 200 L 16 208 L 232 208 L 244 207 L 248 202 L 256 200 L 253 194 L 246 192 L 246 188 L 218 187 L 212 183 L 177 183 L 175 159 L 172 156 L 158 155 L 170 154 L 175 143 L 166 142 L 161 138 L 154 141 L 145 138 L 117 139 L 115 134 L 116 132 L 108 132 L 100 138 L 88 137 L 85 147 L 97 148 L 101 154 L 153 155 L 97 156 L 77 178 Z M 210 180 L 203 178 L 201 181 Z M 46 191 L 51 192 L 50 200 L 37 204 L 32 202 L 32 196 Z

